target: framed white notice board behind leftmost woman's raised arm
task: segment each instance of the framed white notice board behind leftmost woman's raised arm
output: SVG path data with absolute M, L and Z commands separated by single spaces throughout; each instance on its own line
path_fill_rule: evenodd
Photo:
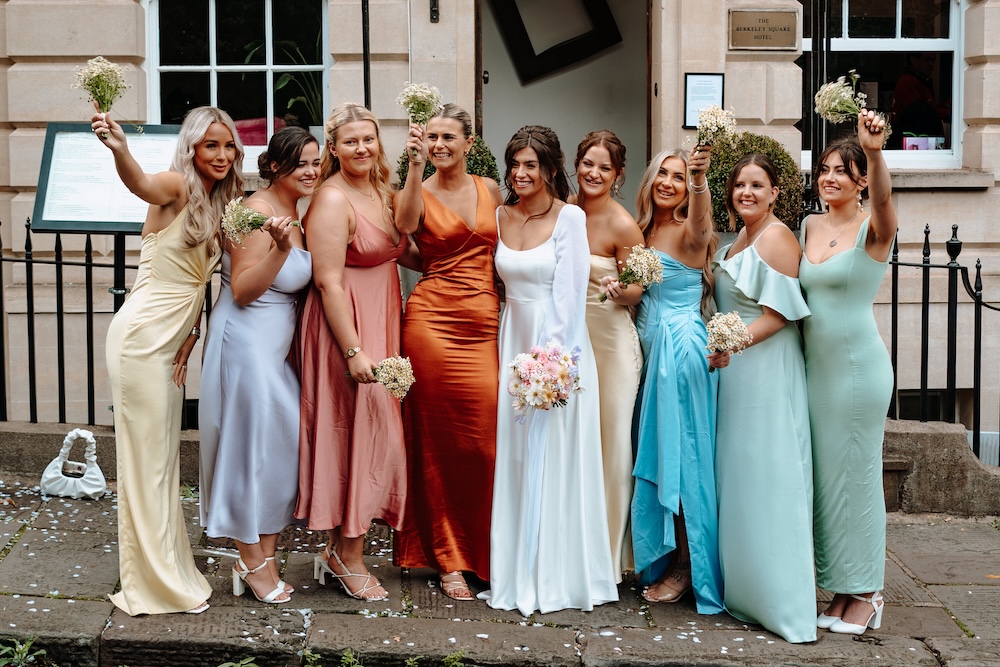
M 180 125 L 127 123 L 129 152 L 147 173 L 170 168 Z M 49 123 L 31 229 L 35 232 L 138 234 L 149 205 L 129 192 L 90 123 Z

